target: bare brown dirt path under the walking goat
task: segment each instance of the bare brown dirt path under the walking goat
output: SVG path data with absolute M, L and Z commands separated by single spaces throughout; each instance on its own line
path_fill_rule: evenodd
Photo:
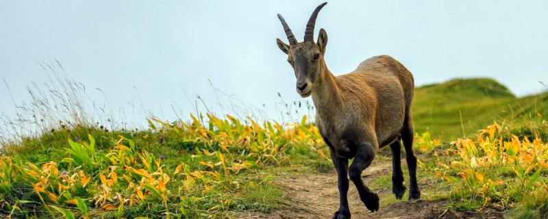
M 373 162 L 362 174 L 367 184 L 377 177 L 390 174 L 390 162 Z M 408 179 L 408 176 L 405 176 Z M 407 180 L 406 180 L 407 181 Z M 238 218 L 332 218 L 338 209 L 338 189 L 336 173 L 321 175 L 302 174 L 278 177 L 275 181 L 282 186 L 286 196 L 290 199 L 282 209 L 271 214 L 249 212 Z M 421 183 L 419 182 L 419 186 Z M 392 184 L 373 190 L 379 197 L 392 195 Z M 408 192 L 408 191 L 406 191 Z M 350 183 L 348 192 L 349 206 L 352 218 L 471 218 L 470 215 L 456 214 L 445 211 L 444 201 L 401 201 L 393 205 L 383 206 L 377 212 L 370 212 L 360 201 L 358 191 Z M 472 218 L 492 218 L 490 216 L 472 216 Z M 498 218 L 498 217 L 495 217 Z

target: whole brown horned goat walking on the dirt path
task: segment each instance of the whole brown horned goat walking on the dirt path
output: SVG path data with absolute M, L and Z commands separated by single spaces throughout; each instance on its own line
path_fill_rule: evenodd
M 392 149 L 392 192 L 398 199 L 403 196 L 406 187 L 401 172 L 400 141 L 403 141 L 407 155 L 411 181 L 409 198 L 420 198 L 421 192 L 416 184 L 416 157 L 412 150 L 413 76 L 388 55 L 371 57 L 347 75 L 332 75 L 323 58 L 327 45 L 324 29 L 320 29 L 314 43 L 316 17 L 325 4 L 312 12 L 303 42 L 297 42 L 282 15 L 278 14 L 289 44 L 277 39 L 277 45 L 288 55 L 287 60 L 295 70 L 297 93 L 303 98 L 312 95 L 316 125 L 331 152 L 340 196 L 340 207 L 333 218 L 350 218 L 348 178 L 356 185 L 365 207 L 371 211 L 379 209 L 379 196 L 364 185 L 361 175 L 377 151 L 386 145 Z

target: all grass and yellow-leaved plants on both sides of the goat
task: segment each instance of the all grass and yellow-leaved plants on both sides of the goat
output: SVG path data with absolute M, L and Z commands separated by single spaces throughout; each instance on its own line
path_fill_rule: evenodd
M 498 209 L 514 218 L 545 218 L 547 102 L 547 93 L 516 98 L 492 79 L 416 88 L 423 199 L 478 215 Z M 0 218 L 268 215 L 290 200 L 276 177 L 333 171 L 329 150 L 306 116 L 292 124 L 210 114 L 174 122 L 151 118 L 138 131 L 69 115 L 77 115 L 72 123 L 43 125 L 40 136 L 0 138 Z M 535 132 L 540 138 L 532 138 Z M 470 138 L 456 140 L 463 135 Z M 438 136 L 455 143 L 442 144 Z M 388 151 L 375 160 L 390 164 Z M 387 170 L 371 179 L 372 188 L 384 191 L 386 209 L 401 202 L 386 190 L 390 177 Z

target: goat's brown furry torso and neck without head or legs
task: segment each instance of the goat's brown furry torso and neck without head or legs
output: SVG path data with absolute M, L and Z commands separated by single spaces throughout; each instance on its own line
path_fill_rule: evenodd
M 345 146 L 348 132 L 358 132 L 353 141 L 370 142 L 375 151 L 399 136 L 404 118 L 410 117 L 414 82 L 397 60 L 379 55 L 349 74 L 335 77 L 325 66 L 319 75 L 312 89 L 316 124 L 338 153 L 353 151 Z

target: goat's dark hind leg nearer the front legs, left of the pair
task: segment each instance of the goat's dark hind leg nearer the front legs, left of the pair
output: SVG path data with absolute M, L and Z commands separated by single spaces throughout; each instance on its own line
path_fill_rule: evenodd
M 401 144 L 395 140 L 390 144 L 392 150 L 392 193 L 397 199 L 401 199 L 406 193 L 406 186 L 403 185 L 403 172 L 401 171 Z

